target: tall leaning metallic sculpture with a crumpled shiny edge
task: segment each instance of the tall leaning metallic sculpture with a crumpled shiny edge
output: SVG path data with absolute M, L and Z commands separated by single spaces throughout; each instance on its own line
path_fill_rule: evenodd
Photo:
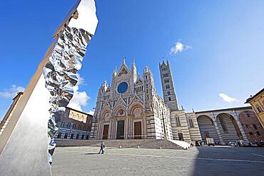
M 78 0 L 57 29 L 56 41 L 0 136 L 1 175 L 51 175 L 56 124 L 73 97 L 76 73 L 97 24 L 94 0 Z

